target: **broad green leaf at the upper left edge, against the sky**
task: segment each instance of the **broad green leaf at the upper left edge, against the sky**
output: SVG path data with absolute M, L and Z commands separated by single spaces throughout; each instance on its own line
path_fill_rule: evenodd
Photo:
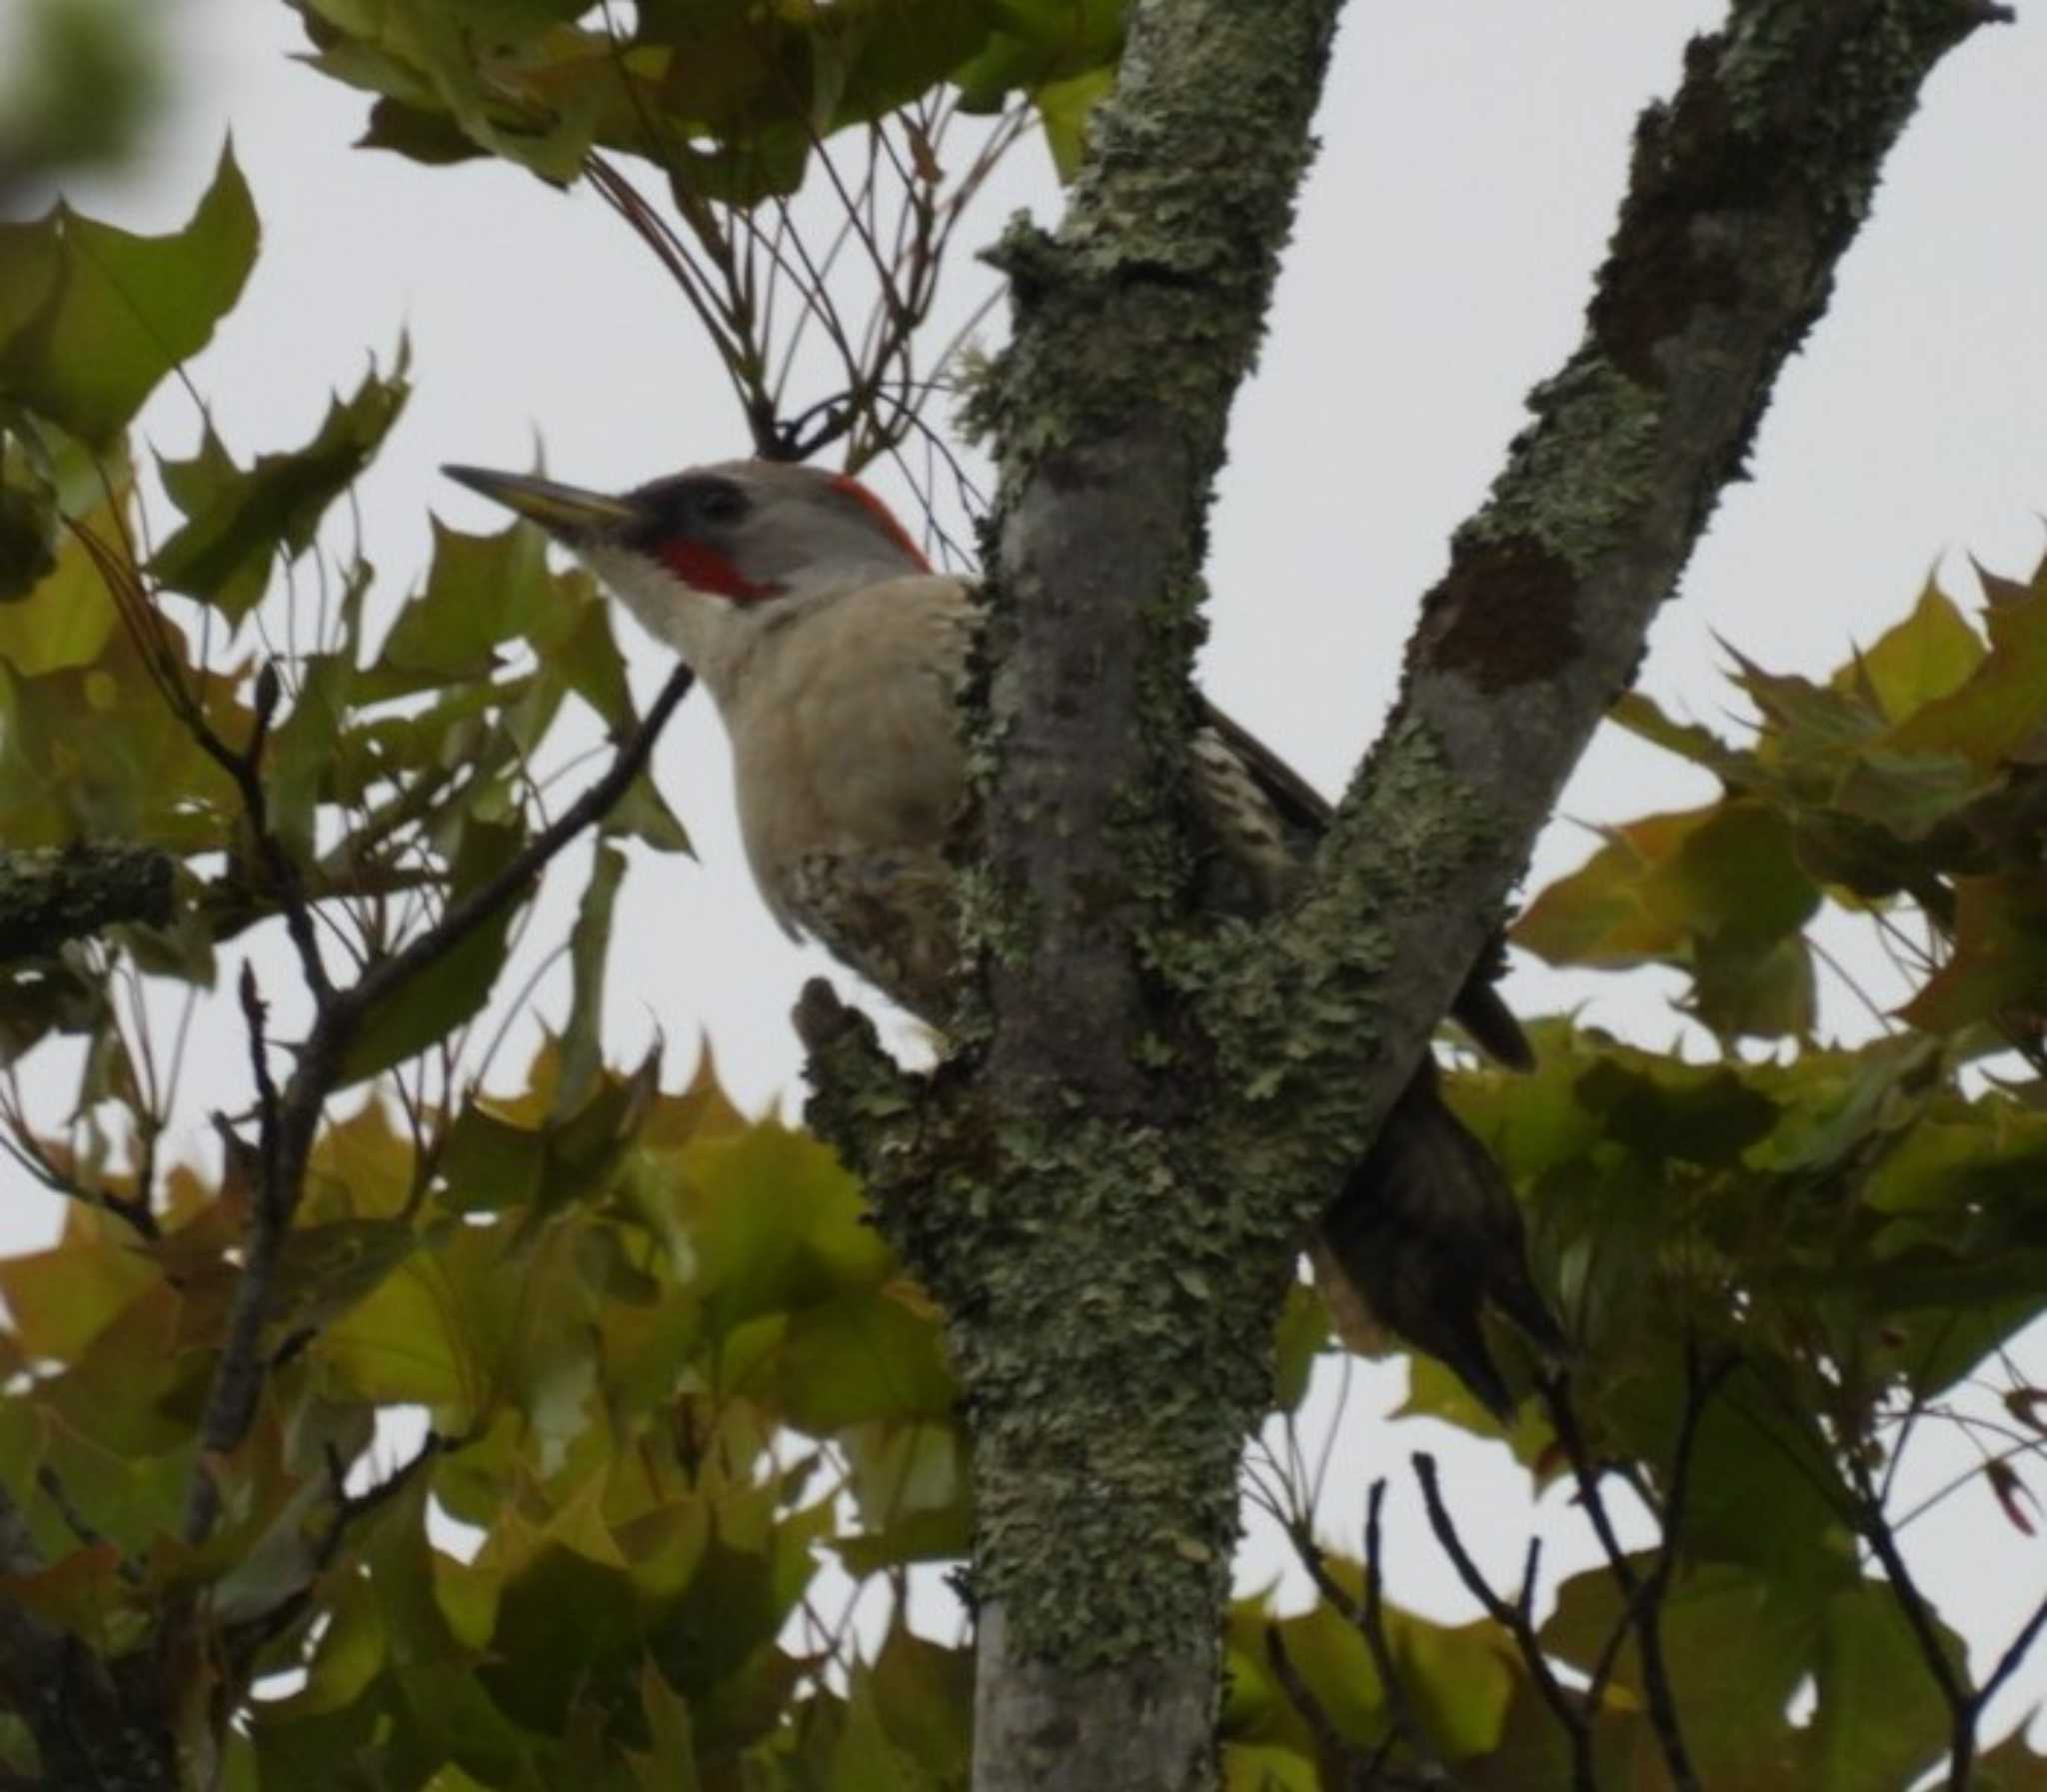
M 106 446 L 143 399 L 213 338 L 256 262 L 256 207 L 221 150 L 192 221 L 143 238 L 59 205 L 0 225 L 0 395 Z M 33 297 L 31 297 L 33 295 Z

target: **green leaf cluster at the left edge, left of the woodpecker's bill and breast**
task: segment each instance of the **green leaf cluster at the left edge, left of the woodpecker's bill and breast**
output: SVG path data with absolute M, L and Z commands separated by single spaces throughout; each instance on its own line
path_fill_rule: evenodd
M 373 569 L 309 557 L 330 508 L 368 465 L 407 395 L 405 350 L 336 397 L 309 442 L 237 465 L 205 428 L 158 471 L 184 522 L 156 551 L 137 537 L 125 426 L 211 338 L 256 256 L 256 213 L 231 154 L 192 221 L 137 238 L 57 207 L 0 231 L 0 825 L 12 846 L 121 840 L 180 860 L 176 920 L 137 930 L 143 969 L 211 981 L 213 946 L 285 901 L 252 840 L 231 756 L 262 735 L 264 831 L 293 895 L 346 905 L 362 950 L 389 950 L 516 852 L 540 813 L 532 762 L 579 696 L 614 735 L 635 725 L 608 608 L 581 573 L 555 573 L 530 530 L 471 537 L 436 524 L 426 584 L 377 651 L 364 639 Z M 287 651 L 233 643 L 282 567 Z M 164 594 L 192 602 L 174 608 Z M 221 643 L 229 643 L 221 649 Z M 213 664 L 221 651 L 227 666 Z M 258 682 L 276 680 L 258 719 Z M 90 727 L 80 727 L 92 717 Z M 678 850 L 653 786 L 614 829 Z M 368 1075 L 481 1006 L 506 926 L 444 961 L 420 1020 L 358 1040 Z M 16 963 L 14 1053 L 72 1020 L 92 952 Z M 418 993 L 418 991 L 416 991 Z M 90 1004 L 88 1004 L 90 1008 Z M 104 1018 L 104 1010 L 100 1010 Z

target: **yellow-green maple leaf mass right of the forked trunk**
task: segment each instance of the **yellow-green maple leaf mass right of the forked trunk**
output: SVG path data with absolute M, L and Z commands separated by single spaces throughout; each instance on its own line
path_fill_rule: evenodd
M 2047 1309 L 2047 561 L 1981 584 L 1981 631 L 1928 586 L 1824 682 L 1738 657 L 1744 743 L 1640 694 L 1617 707 L 1722 793 L 1605 829 L 1515 940 L 1683 973 L 1722 1051 L 1687 1063 L 1552 1020 L 1531 1075 L 1449 1081 L 1580 1343 L 1509 1444 L 1537 1487 L 1574 1485 L 1603 1561 L 1545 1587 L 1531 1554 L 1521 1585 L 1488 1585 L 1425 1470 L 1437 1542 L 1486 1608 L 1433 1626 L 1367 1599 L 1376 1540 L 1324 1556 L 1306 1495 L 1269 1487 L 1324 1597 L 1232 1616 L 1230 1735 L 1255 1761 L 1232 1784 L 1863 1792 L 1973 1753 L 2041 1618 L 1971 1683 L 1902 1532 L 1981 1499 L 2022 1548 L 2047 1454 L 2047 1391 L 2016 1360 Z M 1867 920 L 1908 991 L 1855 1049 L 1814 1038 L 1826 903 Z M 1425 1358 L 1404 1411 L 1490 1430 Z M 1961 1473 L 1902 1509 L 1932 1436 Z M 1654 1546 L 1625 1544 L 1609 1501 Z M 2041 1786 L 2047 1757 L 2020 1729 L 1963 1780 Z

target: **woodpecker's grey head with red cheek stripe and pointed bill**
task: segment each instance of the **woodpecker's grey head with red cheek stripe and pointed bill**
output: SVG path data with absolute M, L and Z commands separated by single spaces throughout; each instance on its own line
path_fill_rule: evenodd
M 866 485 L 819 467 L 718 461 L 620 498 L 444 467 L 561 541 L 712 686 L 778 621 L 931 567 Z

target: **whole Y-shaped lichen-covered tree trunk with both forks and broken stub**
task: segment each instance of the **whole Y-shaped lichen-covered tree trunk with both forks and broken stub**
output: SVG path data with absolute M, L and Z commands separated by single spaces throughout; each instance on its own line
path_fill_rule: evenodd
M 1202 516 L 1335 0 L 1148 0 L 1056 238 L 1011 231 L 985 1010 L 929 1081 L 813 991 L 813 1120 L 952 1315 L 976 1792 L 1212 1784 L 1234 1466 L 1298 1229 L 1359 1161 L 1826 301 L 1971 0 L 1736 0 L 1652 109 L 1588 334 L 1455 537 L 1294 907 L 1187 915 Z

